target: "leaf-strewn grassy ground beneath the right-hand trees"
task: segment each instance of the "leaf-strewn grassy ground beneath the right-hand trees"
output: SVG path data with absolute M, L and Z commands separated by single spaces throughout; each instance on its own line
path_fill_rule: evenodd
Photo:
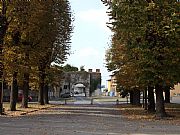
M 121 114 L 128 119 L 148 121 L 156 120 L 155 114 L 148 113 L 141 106 L 120 104 L 117 107 L 119 108 Z M 165 121 L 168 120 L 169 122 L 180 123 L 180 104 L 165 104 L 165 109 L 167 114 L 171 116 L 165 118 Z

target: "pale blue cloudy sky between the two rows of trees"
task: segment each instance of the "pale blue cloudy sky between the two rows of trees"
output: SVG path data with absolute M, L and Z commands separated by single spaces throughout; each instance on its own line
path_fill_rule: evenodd
M 102 85 L 107 85 L 110 73 L 105 67 L 105 51 L 111 39 L 106 26 L 109 18 L 101 0 L 69 0 L 74 14 L 71 52 L 65 64 L 84 66 L 85 70 L 101 70 Z

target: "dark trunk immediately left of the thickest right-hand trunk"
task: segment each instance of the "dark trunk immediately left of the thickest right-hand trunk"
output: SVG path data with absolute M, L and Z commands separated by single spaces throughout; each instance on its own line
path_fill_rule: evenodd
M 154 88 L 148 86 L 148 112 L 155 112 Z

